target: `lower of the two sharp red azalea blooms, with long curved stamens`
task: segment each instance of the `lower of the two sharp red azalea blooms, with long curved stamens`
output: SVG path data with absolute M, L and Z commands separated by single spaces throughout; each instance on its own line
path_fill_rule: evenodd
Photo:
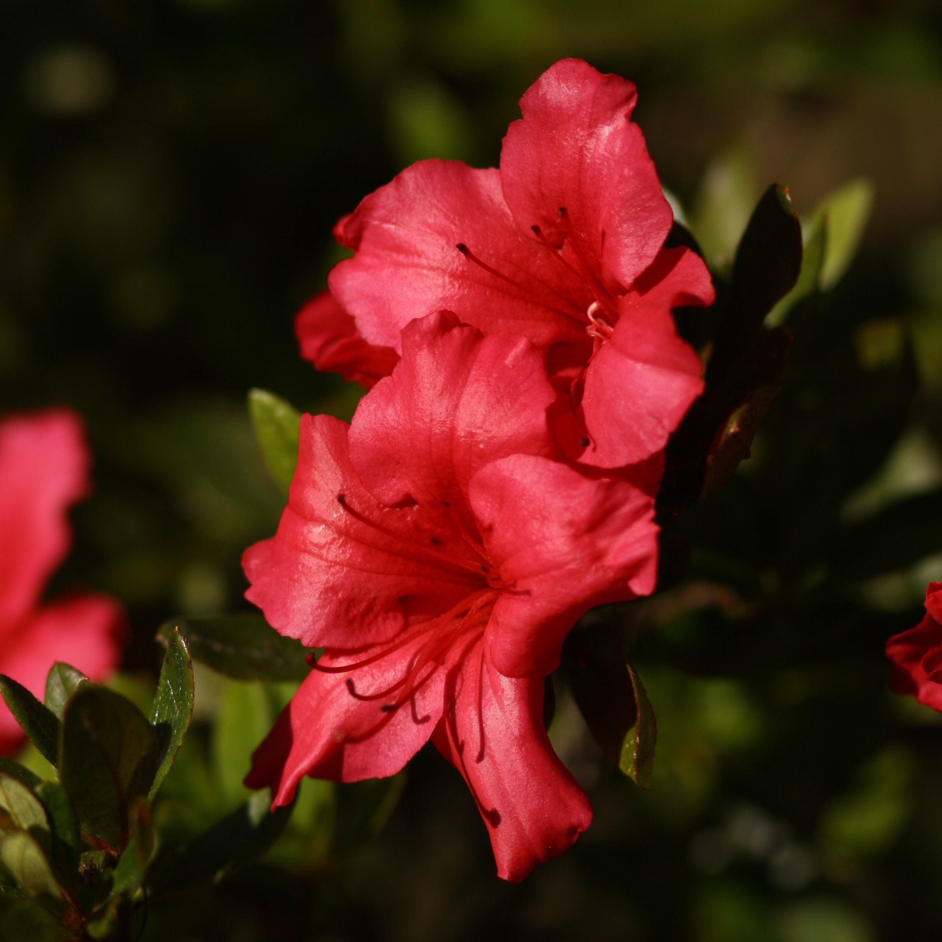
M 544 675 L 583 611 L 653 590 L 653 501 L 553 460 L 527 340 L 442 312 L 402 349 L 351 426 L 304 416 L 278 533 L 245 554 L 269 624 L 327 649 L 247 784 L 286 804 L 305 774 L 392 775 L 432 739 L 520 880 L 591 820 L 544 731 Z

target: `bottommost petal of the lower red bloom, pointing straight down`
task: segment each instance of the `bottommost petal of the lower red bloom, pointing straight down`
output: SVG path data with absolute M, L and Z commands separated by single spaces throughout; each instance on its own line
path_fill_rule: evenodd
M 517 883 L 592 822 L 589 799 L 546 736 L 543 677 L 499 674 L 475 642 L 450 667 L 445 696 L 432 741 L 471 788 L 497 875 Z

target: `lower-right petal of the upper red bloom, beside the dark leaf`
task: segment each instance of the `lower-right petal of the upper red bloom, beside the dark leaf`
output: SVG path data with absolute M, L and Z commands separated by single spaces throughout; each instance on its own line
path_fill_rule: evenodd
M 669 249 L 662 256 L 671 268 L 647 293 L 619 301 L 614 332 L 586 370 L 581 410 L 591 445 L 582 463 L 614 468 L 644 461 L 667 445 L 703 392 L 703 364 L 678 336 L 671 310 L 712 300 L 712 284 L 695 252 Z

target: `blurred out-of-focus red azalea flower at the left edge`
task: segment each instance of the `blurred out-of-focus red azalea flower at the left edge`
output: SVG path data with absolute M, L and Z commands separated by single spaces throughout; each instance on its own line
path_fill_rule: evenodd
M 104 595 L 39 604 L 46 580 L 69 551 L 68 507 L 89 492 L 81 421 L 66 411 L 0 423 L 0 674 L 42 698 L 57 660 L 102 680 L 120 659 L 123 614 Z M 0 755 L 23 731 L 0 703 Z

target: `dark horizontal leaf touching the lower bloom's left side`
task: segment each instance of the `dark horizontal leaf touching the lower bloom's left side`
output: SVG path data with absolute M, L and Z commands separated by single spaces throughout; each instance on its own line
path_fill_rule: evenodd
M 195 660 L 235 680 L 300 681 L 311 673 L 305 658 L 313 649 L 284 638 L 261 615 L 175 619 L 157 637 L 168 638 L 175 627 Z

